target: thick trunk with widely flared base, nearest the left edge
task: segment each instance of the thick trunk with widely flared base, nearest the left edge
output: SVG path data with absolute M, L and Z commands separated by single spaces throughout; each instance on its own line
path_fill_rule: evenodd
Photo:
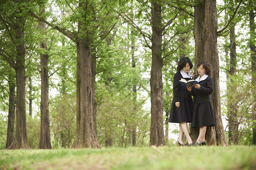
M 29 149 L 26 125 L 26 102 L 25 102 L 25 55 L 24 55 L 24 20 L 16 16 L 15 25 L 17 57 L 15 65 L 15 77 L 17 86 L 16 105 L 16 134 L 13 143 L 7 149 Z

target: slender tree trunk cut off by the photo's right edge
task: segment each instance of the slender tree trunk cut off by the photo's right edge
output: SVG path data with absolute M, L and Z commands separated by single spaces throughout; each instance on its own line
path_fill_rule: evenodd
M 252 51 L 251 56 L 252 56 L 252 82 L 256 81 L 256 47 L 255 47 L 255 12 L 252 10 L 250 12 L 250 49 Z M 254 95 L 256 93 L 254 92 Z M 256 95 L 254 96 L 254 107 L 256 107 Z M 253 120 L 256 120 L 256 116 L 254 115 Z M 252 135 L 253 135 L 253 145 L 256 145 L 256 123 L 253 123 L 253 128 L 252 128 Z

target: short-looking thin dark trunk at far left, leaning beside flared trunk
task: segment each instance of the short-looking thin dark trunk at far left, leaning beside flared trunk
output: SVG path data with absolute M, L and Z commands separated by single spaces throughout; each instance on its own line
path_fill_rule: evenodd
M 7 140 L 5 148 L 8 148 L 14 140 L 14 123 L 15 123 L 15 78 L 9 74 L 9 110 L 8 110 L 8 126 Z

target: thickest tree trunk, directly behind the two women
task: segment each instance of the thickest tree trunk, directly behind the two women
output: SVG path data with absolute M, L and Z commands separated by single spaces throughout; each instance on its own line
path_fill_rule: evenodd
M 227 146 L 227 138 L 221 119 L 219 91 L 219 59 L 217 46 L 217 9 L 216 0 L 196 0 L 194 19 L 194 39 L 196 43 L 195 66 L 201 61 L 208 61 L 212 66 L 213 93 L 212 103 L 216 127 L 207 127 L 208 145 Z M 197 73 L 197 67 L 195 67 Z M 196 141 L 198 134 L 191 129 L 191 138 Z

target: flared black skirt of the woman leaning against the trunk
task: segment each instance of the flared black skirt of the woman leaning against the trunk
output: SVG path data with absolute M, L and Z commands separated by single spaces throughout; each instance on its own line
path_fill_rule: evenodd
M 192 128 L 200 126 L 216 126 L 212 102 L 194 105 Z

